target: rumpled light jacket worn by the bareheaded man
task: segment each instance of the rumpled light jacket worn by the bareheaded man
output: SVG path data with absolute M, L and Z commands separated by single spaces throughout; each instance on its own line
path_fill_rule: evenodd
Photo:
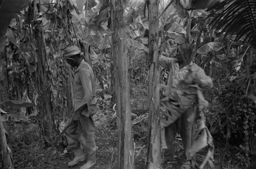
M 201 67 L 193 62 L 183 67 L 182 69 L 179 69 L 179 65 L 177 62 L 175 62 L 175 59 L 167 58 L 161 55 L 159 57 L 159 64 L 164 69 L 169 71 L 165 95 L 172 100 L 178 101 L 181 106 L 184 105 L 184 108 L 187 107 L 189 104 L 193 104 L 197 96 L 196 88 L 190 88 L 187 85 L 182 84 L 182 82 L 188 81 L 188 75 L 189 77 L 193 75 L 193 79 L 202 80 L 202 87 L 212 87 L 211 78 L 205 74 L 204 70 Z

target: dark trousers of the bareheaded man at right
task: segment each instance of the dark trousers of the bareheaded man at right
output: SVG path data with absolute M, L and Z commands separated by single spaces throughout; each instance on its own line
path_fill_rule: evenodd
M 188 117 L 194 112 L 193 107 L 187 109 L 179 119 L 174 123 L 165 127 L 165 142 L 167 149 L 164 152 L 164 160 L 173 160 L 175 152 L 175 136 L 177 130 L 179 130 L 185 154 L 185 161 L 190 161 L 195 163 L 196 158 L 190 157 L 188 150 L 190 149 L 193 143 L 193 135 L 195 133 L 194 121 L 189 122 Z

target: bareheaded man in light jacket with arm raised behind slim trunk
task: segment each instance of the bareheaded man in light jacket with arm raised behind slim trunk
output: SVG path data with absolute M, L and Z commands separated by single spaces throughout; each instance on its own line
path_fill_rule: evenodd
M 202 68 L 192 62 L 192 48 L 186 43 L 177 47 L 176 59 L 160 56 L 159 64 L 169 71 L 165 89 L 166 97 L 165 101 L 162 101 L 161 108 L 165 118 L 160 120 L 161 137 L 165 149 L 164 162 L 173 160 L 175 136 L 179 129 L 186 158 L 181 168 L 191 168 L 195 164 L 195 157 L 191 157 L 188 150 L 193 142 L 195 129 L 193 129 L 194 121 L 188 121 L 188 117 L 194 112 L 194 104 L 197 103 L 197 89 L 189 85 L 196 84 L 201 88 L 211 88 L 212 80 Z

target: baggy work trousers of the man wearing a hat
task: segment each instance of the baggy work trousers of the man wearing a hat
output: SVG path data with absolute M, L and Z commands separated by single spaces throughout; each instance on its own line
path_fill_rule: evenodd
M 94 140 L 96 126 L 92 116 L 81 116 L 79 120 L 74 121 L 72 116 L 68 119 L 66 126 L 72 122 L 73 124 L 65 133 L 69 143 L 68 147 L 74 150 L 81 146 L 88 154 L 93 154 L 96 151 L 96 144 Z

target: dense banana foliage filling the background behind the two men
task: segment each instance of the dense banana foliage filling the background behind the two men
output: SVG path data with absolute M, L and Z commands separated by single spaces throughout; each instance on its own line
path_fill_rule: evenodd
M 39 131 L 34 134 L 38 143 L 44 145 L 43 148 L 51 145 L 54 135 L 59 133 L 72 111 L 73 75 L 62 58 L 65 47 L 78 45 L 84 53 L 90 53 L 90 57 L 86 54 L 85 59 L 95 72 L 99 108 L 104 111 L 103 114 L 114 111 L 110 8 L 108 1 L 99 1 L 98 4 L 95 1 L 87 2 L 88 10 L 80 13 L 74 1 L 29 1 L 29 5 L 12 20 L 6 34 L 5 53 L 0 59 L 0 75 L 4 77 L 1 97 L 5 99 L 1 101 L 16 102 L 1 103 L 6 111 L 2 111 L 2 117 L 5 121 L 9 120 L 6 127 L 11 132 L 15 121 L 31 123 L 31 128 L 24 135 Z M 239 6 L 239 1 L 231 5 L 228 2 L 224 3 L 225 6 L 211 6 L 212 9 L 208 11 L 198 10 L 194 4 L 188 7 L 195 9 L 191 11 L 184 8 L 180 1 L 160 1 L 159 53 L 172 57 L 178 44 L 188 42 L 193 45 L 194 61 L 214 81 L 214 88 L 204 91 L 206 100 L 210 102 L 205 114 L 210 132 L 221 141 L 252 150 L 256 134 L 256 57 L 251 43 L 254 33 L 247 36 L 240 27 L 238 30 L 235 27 L 231 29 L 233 25 L 229 23 L 237 21 L 240 14 L 228 11 L 231 8 L 252 11 L 250 14 L 243 13 L 240 19 L 248 23 L 239 25 L 252 24 L 248 29 L 254 31 L 255 3 L 243 1 L 243 6 Z M 223 7 L 226 7 L 225 15 L 221 14 Z M 148 94 L 145 2 L 129 1 L 126 12 L 130 90 L 134 97 L 132 107 L 143 105 L 143 109 L 147 109 L 146 99 L 135 98 L 141 95 L 147 97 Z M 231 18 L 232 14 L 235 20 Z M 222 17 L 226 20 L 218 24 Z M 225 29 L 222 29 L 223 26 Z M 227 34 L 224 35 L 224 32 Z M 161 69 L 163 85 L 166 85 L 167 77 L 167 72 Z M 29 105 L 31 102 L 37 106 Z M 133 124 L 141 123 L 145 127 L 146 117 L 145 114 L 137 117 Z M 135 126 L 134 129 L 135 139 L 144 141 L 144 128 L 140 130 Z M 28 146 L 35 141 L 26 139 L 29 143 L 22 143 L 20 140 L 23 138 L 17 136 L 10 143 Z M 65 146 L 65 140 L 61 143 Z

